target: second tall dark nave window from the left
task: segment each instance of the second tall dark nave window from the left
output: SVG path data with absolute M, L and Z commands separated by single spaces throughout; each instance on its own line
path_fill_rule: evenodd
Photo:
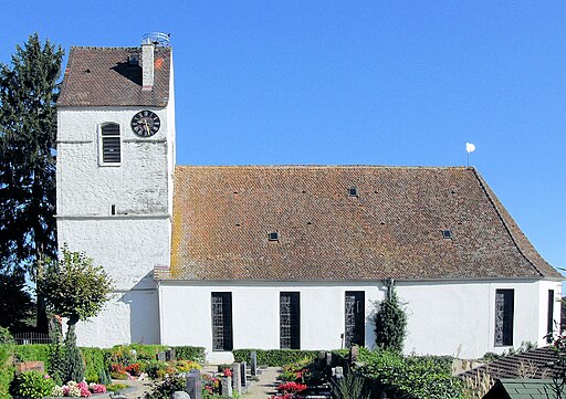
M 301 349 L 301 308 L 297 292 L 280 294 L 281 349 Z

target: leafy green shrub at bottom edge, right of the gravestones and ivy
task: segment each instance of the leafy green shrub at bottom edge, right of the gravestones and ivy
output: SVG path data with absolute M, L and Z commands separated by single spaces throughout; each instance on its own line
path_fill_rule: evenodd
M 364 351 L 360 371 L 382 389 L 408 399 L 460 399 L 462 382 L 434 357 L 403 358 L 396 351 Z

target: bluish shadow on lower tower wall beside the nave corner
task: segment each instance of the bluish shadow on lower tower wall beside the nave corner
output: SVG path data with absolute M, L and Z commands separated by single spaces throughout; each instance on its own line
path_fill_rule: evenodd
M 153 272 L 118 300 L 129 307 L 129 338 L 136 344 L 159 344 L 157 284 Z

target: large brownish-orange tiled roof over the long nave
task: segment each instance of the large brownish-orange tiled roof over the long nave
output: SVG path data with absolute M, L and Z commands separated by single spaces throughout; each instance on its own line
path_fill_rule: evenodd
M 155 276 L 562 279 L 473 168 L 371 166 L 177 167 L 171 266 Z

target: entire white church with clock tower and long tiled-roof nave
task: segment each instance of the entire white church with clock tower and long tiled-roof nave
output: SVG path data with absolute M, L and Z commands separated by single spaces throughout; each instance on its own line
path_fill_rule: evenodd
M 546 344 L 560 281 L 472 167 L 177 166 L 172 50 L 72 48 L 57 239 L 115 288 L 82 346 L 336 349 L 375 342 L 394 282 L 406 353 Z

